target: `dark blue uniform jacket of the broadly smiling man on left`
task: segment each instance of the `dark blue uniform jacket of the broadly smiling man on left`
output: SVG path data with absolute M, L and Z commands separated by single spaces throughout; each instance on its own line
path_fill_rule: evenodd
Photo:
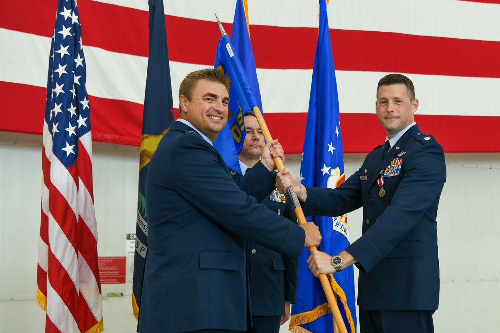
M 256 197 L 275 182 L 260 168 L 241 182 Z M 300 255 L 305 240 L 302 228 L 241 191 L 218 151 L 180 122 L 171 125 L 149 165 L 146 213 L 141 333 L 246 330 L 244 238 L 291 257 Z

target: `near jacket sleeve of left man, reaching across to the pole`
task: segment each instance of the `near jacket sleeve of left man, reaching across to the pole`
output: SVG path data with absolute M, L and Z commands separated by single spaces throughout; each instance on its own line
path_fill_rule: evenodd
M 165 168 L 171 169 L 165 174 L 178 174 L 170 180 L 173 190 L 196 207 L 199 214 L 235 235 L 281 254 L 295 258 L 300 255 L 304 230 L 241 191 L 211 146 L 186 137 L 176 152 L 171 161 L 164 161 Z

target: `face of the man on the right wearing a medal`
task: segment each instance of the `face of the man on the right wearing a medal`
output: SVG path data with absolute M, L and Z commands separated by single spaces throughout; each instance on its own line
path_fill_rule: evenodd
M 415 121 L 418 99 L 411 100 L 405 84 L 381 85 L 375 102 L 378 121 L 390 139 Z

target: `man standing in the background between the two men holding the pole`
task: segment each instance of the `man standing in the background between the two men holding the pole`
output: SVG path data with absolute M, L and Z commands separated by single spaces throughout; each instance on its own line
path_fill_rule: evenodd
M 244 115 L 244 124 L 246 136 L 238 156 L 243 175 L 260 161 L 265 145 L 264 134 L 253 113 Z M 242 177 L 234 170 L 231 170 L 231 175 L 234 180 Z M 277 189 L 260 203 L 277 215 L 293 222 L 297 220 L 290 199 Z M 290 305 L 297 296 L 298 261 L 250 242 L 247 249 L 253 327 L 246 332 L 278 333 L 279 326 L 290 318 Z

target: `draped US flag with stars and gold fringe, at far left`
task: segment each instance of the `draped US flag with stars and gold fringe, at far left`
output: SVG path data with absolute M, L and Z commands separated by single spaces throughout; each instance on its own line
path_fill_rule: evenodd
M 59 0 L 43 127 L 37 300 L 45 332 L 102 332 L 90 105 L 76 1 Z

